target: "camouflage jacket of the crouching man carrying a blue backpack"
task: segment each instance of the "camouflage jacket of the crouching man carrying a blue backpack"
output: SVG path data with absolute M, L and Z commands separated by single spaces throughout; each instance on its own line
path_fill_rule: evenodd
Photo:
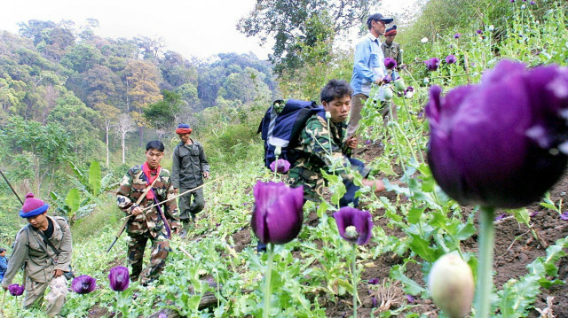
M 325 181 L 320 169 L 327 174 L 334 173 L 332 159 L 327 155 L 330 149 L 332 158 L 341 160 L 343 167 L 350 166 L 349 159 L 345 156 L 349 150 L 345 143 L 347 124 L 344 121 L 340 123 L 330 121 L 330 124 L 329 131 L 327 120 L 314 114 L 306 121 L 305 128 L 292 151 L 298 159 L 288 172 L 288 183 L 292 186 L 304 184 L 304 198 L 308 200 L 319 201 L 319 197 L 323 194 Z M 351 171 L 343 167 L 336 167 L 335 174 L 341 175 L 343 180 L 352 180 Z M 362 167 L 359 173 L 367 176 L 369 170 L 370 168 Z

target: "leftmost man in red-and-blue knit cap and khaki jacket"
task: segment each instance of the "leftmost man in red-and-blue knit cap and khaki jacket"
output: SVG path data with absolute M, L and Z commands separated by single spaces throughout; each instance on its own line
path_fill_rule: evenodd
M 64 218 L 47 215 L 49 206 L 33 193 L 26 195 L 20 216 L 28 219 L 28 225 L 20 229 L 8 269 L 2 280 L 4 290 L 12 284 L 18 270 L 26 264 L 26 296 L 24 308 L 43 302 L 49 317 L 58 315 L 67 299 L 67 277 L 70 278 L 71 230 Z

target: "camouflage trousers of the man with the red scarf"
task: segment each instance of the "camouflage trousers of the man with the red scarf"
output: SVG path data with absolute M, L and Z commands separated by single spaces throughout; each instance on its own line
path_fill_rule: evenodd
M 156 237 L 152 237 L 146 230 L 144 233 L 129 233 L 130 242 L 128 243 L 128 262 L 132 268 L 130 280 L 136 282 L 138 277 L 140 283 L 150 283 L 158 278 L 166 266 L 166 259 L 171 252 L 170 241 L 166 234 L 161 232 Z M 144 250 L 148 240 L 152 241 L 152 252 L 150 252 L 150 263 L 142 271 L 144 265 Z

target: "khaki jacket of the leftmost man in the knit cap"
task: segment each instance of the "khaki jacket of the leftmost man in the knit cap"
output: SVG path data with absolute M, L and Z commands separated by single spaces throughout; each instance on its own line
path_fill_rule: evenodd
M 53 224 L 53 234 L 48 238 L 59 255 L 51 250 L 51 246 L 43 242 L 38 229 L 27 225 L 20 229 L 16 235 L 16 242 L 8 263 L 8 270 L 4 275 L 2 286 L 8 287 L 20 268 L 26 264 L 26 275 L 36 283 L 47 283 L 53 277 L 55 269 L 69 271 L 71 265 L 71 230 L 64 218 L 60 216 L 47 216 Z M 28 262 L 26 262 L 28 261 Z

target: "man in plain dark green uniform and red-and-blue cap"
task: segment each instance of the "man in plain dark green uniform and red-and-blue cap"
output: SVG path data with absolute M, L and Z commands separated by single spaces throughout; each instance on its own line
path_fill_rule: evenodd
M 187 190 L 203 184 L 203 178 L 209 178 L 209 163 L 205 157 L 201 143 L 190 138 L 193 129 L 187 124 L 180 124 L 176 129 L 180 142 L 174 149 L 173 165 L 171 167 L 171 183 L 174 192 L 184 193 Z M 193 197 L 193 204 L 191 199 Z M 183 223 L 180 237 L 187 235 L 191 221 L 195 214 L 200 213 L 205 206 L 203 188 L 187 193 L 179 198 L 179 219 Z

